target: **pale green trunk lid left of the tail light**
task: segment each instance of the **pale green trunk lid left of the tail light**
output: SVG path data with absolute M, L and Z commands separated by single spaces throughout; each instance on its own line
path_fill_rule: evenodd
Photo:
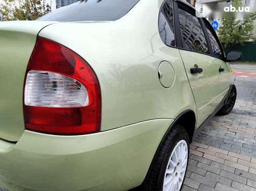
M 18 141 L 25 130 L 22 109 L 25 72 L 38 32 L 51 23 L 0 23 L 0 138 Z

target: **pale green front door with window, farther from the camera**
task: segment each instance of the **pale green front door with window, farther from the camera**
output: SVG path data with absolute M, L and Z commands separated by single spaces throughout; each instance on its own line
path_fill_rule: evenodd
M 210 44 L 212 47 L 212 54 L 214 57 L 214 64 L 218 65 L 218 71 L 219 71 L 219 87 L 218 87 L 218 102 L 220 103 L 222 99 L 225 97 L 226 93 L 229 90 L 229 86 L 232 81 L 232 75 L 231 68 L 229 67 L 228 63 L 224 61 L 225 55 L 222 48 L 222 45 L 220 44 L 218 37 L 213 30 L 211 24 L 204 19 L 205 27 L 207 34 L 210 39 Z

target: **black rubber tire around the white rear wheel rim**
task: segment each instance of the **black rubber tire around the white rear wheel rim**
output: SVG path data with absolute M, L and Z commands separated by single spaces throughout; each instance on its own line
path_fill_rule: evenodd
M 171 156 L 172 150 L 177 145 L 177 143 L 179 143 L 182 139 L 187 143 L 187 146 L 188 146 L 187 157 L 189 158 L 189 136 L 187 134 L 187 131 L 181 125 L 174 125 L 162 140 L 161 145 L 159 146 L 157 153 L 152 161 L 152 164 L 150 165 L 150 168 L 148 170 L 146 179 L 144 180 L 141 190 L 146 190 L 146 191 L 162 190 L 165 171 L 166 171 L 166 167 L 169 162 L 169 158 Z M 187 172 L 187 168 L 188 168 L 188 163 L 186 167 L 186 172 Z M 184 179 L 183 179 L 182 185 L 183 183 L 184 183 Z

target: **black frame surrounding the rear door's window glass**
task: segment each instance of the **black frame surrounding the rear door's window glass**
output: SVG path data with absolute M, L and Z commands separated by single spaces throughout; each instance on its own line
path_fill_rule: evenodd
M 208 43 L 208 40 L 207 40 L 208 36 L 205 34 L 204 25 L 202 26 L 201 19 L 195 16 L 195 9 L 189 7 L 188 5 L 186 5 L 184 3 L 177 2 L 177 1 L 174 1 L 174 0 L 173 0 L 173 5 L 175 5 L 175 11 L 174 11 L 174 13 L 175 13 L 174 19 L 176 20 L 175 24 L 177 24 L 179 26 L 179 27 L 176 27 L 176 29 L 179 28 L 179 30 L 176 30 L 176 33 L 178 33 L 178 31 L 179 31 L 179 33 L 178 33 L 179 34 L 179 38 L 177 38 L 177 41 L 179 41 L 179 42 L 177 42 L 177 45 L 178 45 L 177 48 L 181 49 L 181 50 L 186 50 L 186 51 L 190 51 L 190 52 L 194 52 L 194 53 L 199 53 L 199 54 L 207 55 L 207 56 L 213 56 L 211 54 L 211 51 L 210 51 L 212 48 L 211 47 L 209 48 L 210 44 Z M 196 17 L 199 20 L 199 22 L 201 24 L 201 27 L 203 29 L 204 35 L 205 35 L 205 40 L 206 40 L 206 44 L 207 44 L 207 47 L 208 47 L 208 50 L 209 50 L 209 54 L 208 53 L 203 53 L 203 52 L 200 52 L 200 51 L 197 51 L 197 50 L 187 49 L 187 48 L 183 47 L 184 40 L 182 38 L 181 29 L 180 29 L 179 9 L 178 9 L 178 8 L 180 8 L 179 6 L 182 7 L 181 8 L 182 10 L 188 12 L 189 14 L 193 15 L 194 17 Z M 173 8 L 174 8 L 174 6 L 173 6 Z

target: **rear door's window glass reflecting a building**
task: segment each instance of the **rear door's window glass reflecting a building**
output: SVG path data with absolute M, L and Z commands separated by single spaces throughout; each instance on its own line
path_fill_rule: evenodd
M 179 20 L 183 48 L 209 54 L 203 28 L 199 19 L 179 8 Z

